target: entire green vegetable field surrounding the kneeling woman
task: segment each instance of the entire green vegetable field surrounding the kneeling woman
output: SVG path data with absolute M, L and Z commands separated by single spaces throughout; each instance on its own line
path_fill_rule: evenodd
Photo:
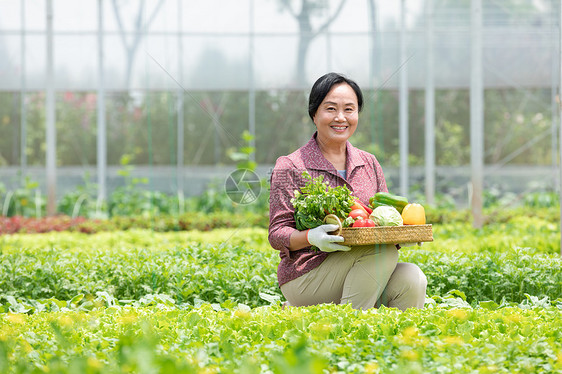
M 2 235 L 0 372 L 562 373 L 556 219 L 434 224 L 406 312 L 282 308 L 265 228 Z

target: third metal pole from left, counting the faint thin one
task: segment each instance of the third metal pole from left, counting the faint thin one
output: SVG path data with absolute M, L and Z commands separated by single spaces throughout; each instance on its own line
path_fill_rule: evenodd
M 103 68 L 103 0 L 98 0 L 98 206 L 107 199 L 107 124 L 105 121 L 105 84 Z

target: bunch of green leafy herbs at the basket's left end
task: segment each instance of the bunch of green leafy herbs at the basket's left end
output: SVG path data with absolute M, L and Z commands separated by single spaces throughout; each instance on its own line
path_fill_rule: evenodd
M 297 230 L 322 225 L 322 220 L 328 214 L 335 214 L 344 227 L 348 226 L 346 218 L 353 205 L 351 191 L 346 186 L 330 187 L 324 182 L 323 175 L 313 179 L 304 171 L 303 176 L 308 182 L 300 191 L 295 190 L 295 197 L 291 199 Z

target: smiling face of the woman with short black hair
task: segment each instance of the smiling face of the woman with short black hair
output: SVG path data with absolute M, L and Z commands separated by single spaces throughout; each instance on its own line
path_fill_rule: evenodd
M 312 118 L 318 137 L 324 142 L 345 142 L 357 128 L 359 105 L 357 95 L 347 83 L 340 83 L 328 92 Z

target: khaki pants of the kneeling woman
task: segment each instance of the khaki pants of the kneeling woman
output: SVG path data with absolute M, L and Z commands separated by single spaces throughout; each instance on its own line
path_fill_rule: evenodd
M 293 306 L 351 303 L 355 309 L 406 310 L 423 307 L 426 286 L 417 265 L 398 263 L 394 245 L 371 245 L 330 253 L 320 266 L 281 286 L 281 292 Z

